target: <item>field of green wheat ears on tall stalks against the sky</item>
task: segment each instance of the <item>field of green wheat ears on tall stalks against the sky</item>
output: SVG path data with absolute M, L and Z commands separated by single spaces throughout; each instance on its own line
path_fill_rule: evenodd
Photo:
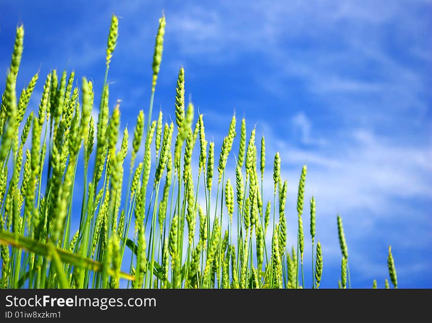
M 315 199 L 304 198 L 306 165 L 298 167 L 297 245 L 288 246 L 288 183 L 281 178 L 279 152 L 266 151 L 264 136 L 257 138 L 255 128 L 234 114 L 223 144 L 215 147 L 206 137 L 204 116 L 185 102 L 182 67 L 173 98 L 175 120 L 165 122 L 162 111 L 153 119 L 165 17 L 154 47 L 149 108 L 137 111 L 130 145 L 128 128 L 120 133 L 121 102 L 109 102 L 108 70 L 118 28 L 113 15 L 101 98 L 95 99 L 92 81 L 77 82 L 74 71 L 52 70 L 42 79 L 39 106 L 30 111 L 42 75 L 17 94 L 24 26 L 17 27 L 0 110 L 0 287 L 319 288 L 325 254 L 315 237 Z M 230 155 L 236 167 L 228 172 Z M 263 200 L 265 171 L 274 182 L 268 201 Z M 77 172 L 83 172 L 84 189 L 81 208 L 72 210 Z M 303 212 L 304 203 L 310 214 Z M 304 232 L 304 221 L 310 221 L 310 232 Z M 73 223 L 79 224 L 76 232 Z M 339 215 L 335 225 L 341 276 L 334 287 L 351 288 Z M 312 243 L 309 260 L 303 257 L 306 239 Z M 311 264 L 312 277 L 305 277 L 303 267 Z M 388 270 L 397 288 L 391 248 Z

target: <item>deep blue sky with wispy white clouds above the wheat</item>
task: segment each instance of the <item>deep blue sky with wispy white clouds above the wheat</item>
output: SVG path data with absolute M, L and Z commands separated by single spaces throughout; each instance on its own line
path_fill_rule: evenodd
M 183 65 L 186 95 L 204 113 L 216 147 L 234 111 L 246 118 L 248 131 L 256 124 L 267 143 L 265 199 L 272 192 L 272 156 L 281 153 L 290 245 L 296 240 L 298 177 L 307 163 L 305 197 L 314 194 L 317 201 L 322 286 L 337 286 L 340 276 L 340 213 L 353 286 L 370 287 L 373 279 L 383 286 L 392 245 L 400 287 L 432 287 L 430 0 L 58 3 L 0 1 L 3 73 L 16 25 L 26 30 L 18 89 L 39 68 L 42 76 L 52 68 L 75 69 L 78 77 L 94 80 L 98 98 L 115 13 L 121 19 L 110 98 L 111 105 L 122 99 L 122 127 L 129 124 L 131 133 L 138 110 L 147 112 L 163 10 L 167 25 L 155 109 L 174 116 Z M 42 86 L 39 81 L 32 109 Z M 306 259 L 309 249 L 310 242 Z

